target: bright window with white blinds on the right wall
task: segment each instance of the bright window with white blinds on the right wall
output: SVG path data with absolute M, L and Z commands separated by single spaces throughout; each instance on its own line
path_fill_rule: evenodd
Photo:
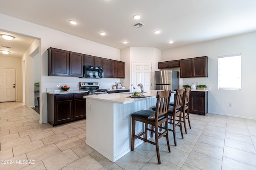
M 218 56 L 218 89 L 241 90 L 241 54 Z

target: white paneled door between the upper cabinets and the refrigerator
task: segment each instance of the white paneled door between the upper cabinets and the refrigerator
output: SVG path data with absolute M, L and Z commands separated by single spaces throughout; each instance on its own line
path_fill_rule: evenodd
M 140 91 L 139 83 L 142 83 L 144 91 L 151 90 L 151 63 L 133 63 L 132 84 L 137 91 Z

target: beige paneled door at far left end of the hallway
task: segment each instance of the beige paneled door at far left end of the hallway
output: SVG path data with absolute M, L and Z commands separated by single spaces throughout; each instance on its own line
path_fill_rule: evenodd
M 16 101 L 15 69 L 0 68 L 0 102 Z

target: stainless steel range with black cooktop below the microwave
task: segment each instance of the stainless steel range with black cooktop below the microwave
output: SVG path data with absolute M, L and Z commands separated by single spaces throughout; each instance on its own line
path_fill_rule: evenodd
M 100 89 L 99 82 L 79 82 L 79 89 L 88 91 L 89 95 L 108 93 L 107 89 Z

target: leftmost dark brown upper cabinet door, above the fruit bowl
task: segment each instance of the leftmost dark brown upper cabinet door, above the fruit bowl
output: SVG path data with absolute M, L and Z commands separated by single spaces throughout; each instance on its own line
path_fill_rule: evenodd
M 69 52 L 60 49 L 48 49 L 48 75 L 69 76 Z

